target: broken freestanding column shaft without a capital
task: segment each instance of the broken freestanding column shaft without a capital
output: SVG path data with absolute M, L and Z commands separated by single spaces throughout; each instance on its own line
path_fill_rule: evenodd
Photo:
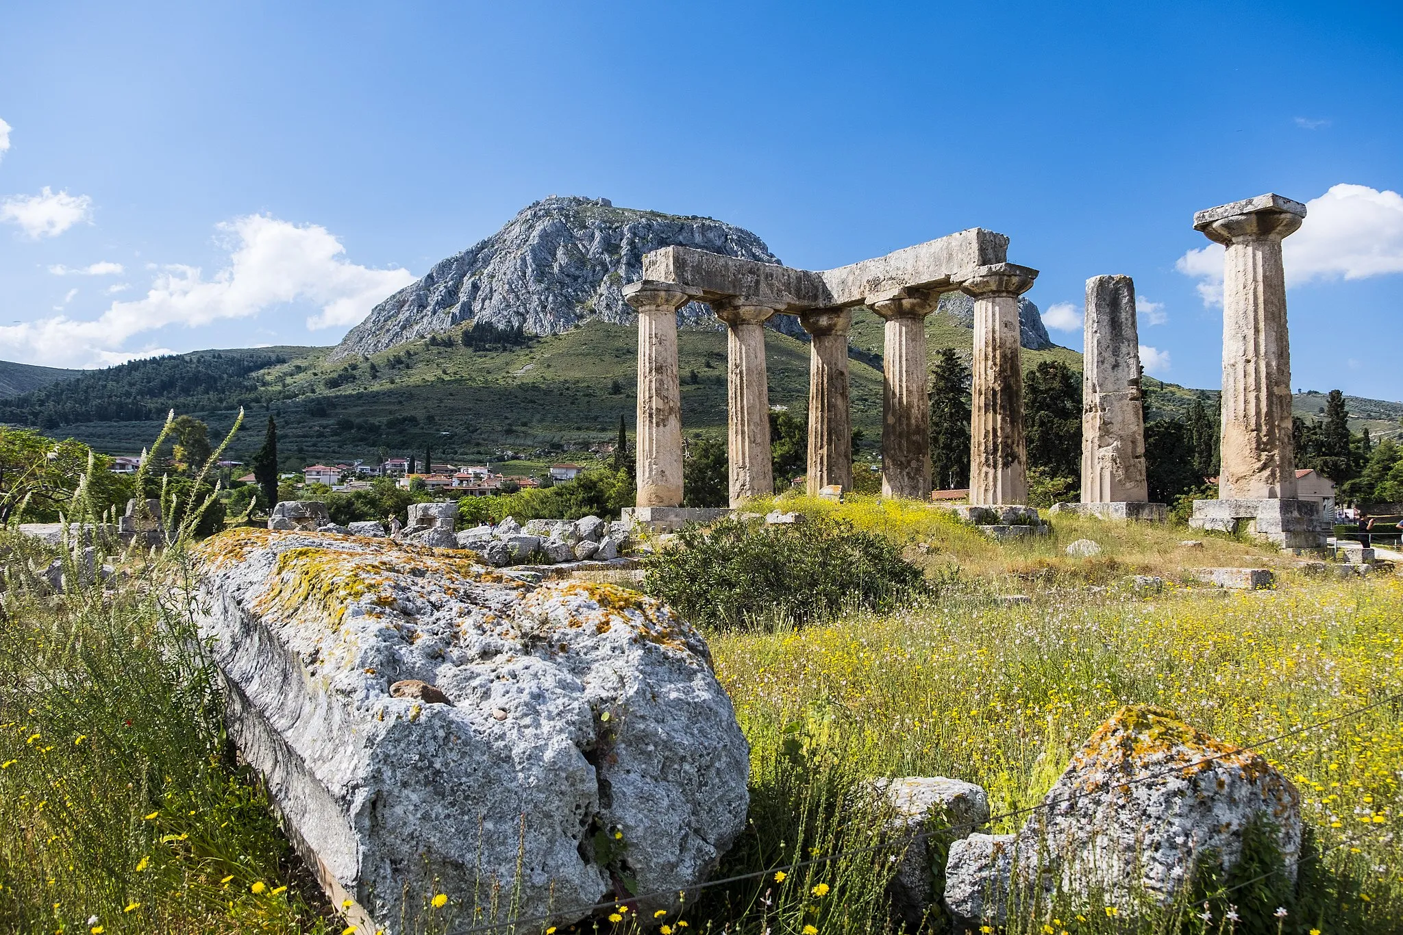
M 1086 280 L 1082 357 L 1082 502 L 1145 500 L 1135 283 L 1129 276 L 1093 276 Z

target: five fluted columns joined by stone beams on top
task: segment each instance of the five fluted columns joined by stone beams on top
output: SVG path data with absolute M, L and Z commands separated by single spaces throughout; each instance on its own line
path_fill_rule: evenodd
M 812 272 L 687 247 L 647 254 L 641 282 L 624 287 L 638 311 L 638 506 L 633 519 L 672 524 L 711 519 L 682 510 L 682 412 L 676 310 L 711 304 L 727 328 L 731 505 L 773 492 L 763 325 L 796 314 L 810 349 L 808 477 L 811 493 L 852 486 L 847 332 L 852 310 L 885 320 L 882 355 L 882 492 L 930 495 L 930 407 L 925 320 L 946 292 L 974 297 L 974 418 L 969 509 L 1005 524 L 1037 526 L 1027 503 L 1019 296 L 1035 269 L 1007 262 L 1009 238 L 981 230 L 908 247 L 849 266 Z M 1009 516 L 1003 516 L 1007 513 Z M 1031 519 L 1026 514 L 1031 514 Z

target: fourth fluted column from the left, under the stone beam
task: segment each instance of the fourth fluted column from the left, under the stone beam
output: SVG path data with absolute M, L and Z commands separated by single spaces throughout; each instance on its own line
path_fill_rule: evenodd
M 898 289 L 868 296 L 867 307 L 887 320 L 882 342 L 881 493 L 930 496 L 930 377 L 926 371 L 926 315 L 940 293 Z

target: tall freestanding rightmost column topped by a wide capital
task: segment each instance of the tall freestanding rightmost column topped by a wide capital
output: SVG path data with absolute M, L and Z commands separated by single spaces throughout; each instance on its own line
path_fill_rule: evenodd
M 1295 499 L 1291 348 L 1281 241 L 1306 206 L 1280 195 L 1209 207 L 1194 230 L 1223 257 L 1222 472 L 1218 498 Z

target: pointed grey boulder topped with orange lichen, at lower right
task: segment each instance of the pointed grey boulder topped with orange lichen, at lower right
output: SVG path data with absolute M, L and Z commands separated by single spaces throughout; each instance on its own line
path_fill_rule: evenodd
M 1125 899 L 1145 890 L 1167 903 L 1200 859 L 1229 871 L 1243 830 L 1261 821 L 1295 879 L 1301 798 L 1264 757 L 1215 740 L 1155 705 L 1131 705 L 1101 725 L 1048 791 L 1014 841 L 951 847 L 951 913 L 1002 924 L 1003 866 L 1027 886 Z M 1012 859 L 1005 855 L 1013 851 Z M 1007 859 L 1007 864 L 1005 861 Z

